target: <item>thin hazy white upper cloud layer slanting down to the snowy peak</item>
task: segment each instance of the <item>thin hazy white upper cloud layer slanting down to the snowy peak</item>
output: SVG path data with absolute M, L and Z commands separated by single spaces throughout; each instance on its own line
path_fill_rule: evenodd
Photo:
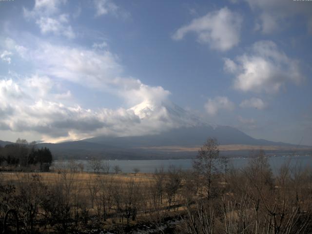
M 107 49 L 95 51 L 42 42 L 39 48 L 28 51 L 27 58 L 33 61 L 41 77 L 60 78 L 110 92 L 124 98 L 129 105 L 146 100 L 159 103 L 170 95 L 160 86 L 149 86 L 139 79 L 123 77 L 118 57 Z

